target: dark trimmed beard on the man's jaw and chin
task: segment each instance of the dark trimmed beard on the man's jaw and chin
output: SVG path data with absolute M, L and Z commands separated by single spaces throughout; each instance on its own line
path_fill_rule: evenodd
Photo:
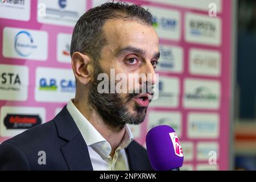
M 147 107 L 134 104 L 131 110 L 128 108 L 133 98 L 139 93 L 127 93 L 125 98 L 122 98 L 119 93 L 99 93 L 97 88 L 101 81 L 97 80 L 97 77 L 99 73 L 104 72 L 100 66 L 96 67 L 95 80 L 89 83 L 88 102 L 90 106 L 100 115 L 106 125 L 113 128 L 122 129 L 125 124 L 139 125 L 142 123 L 146 117 Z

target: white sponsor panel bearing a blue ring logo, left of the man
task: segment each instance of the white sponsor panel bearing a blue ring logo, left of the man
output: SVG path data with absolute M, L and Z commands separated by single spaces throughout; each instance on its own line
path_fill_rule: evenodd
M 46 61 L 48 34 L 46 31 L 21 28 L 3 28 L 3 56 Z

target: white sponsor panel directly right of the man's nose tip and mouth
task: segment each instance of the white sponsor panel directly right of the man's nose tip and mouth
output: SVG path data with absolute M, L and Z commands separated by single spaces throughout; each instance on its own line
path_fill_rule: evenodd
M 152 100 L 151 107 L 175 108 L 179 106 L 179 78 L 159 76 L 159 84 L 155 85 L 155 89 L 159 90 L 159 96 L 156 100 Z

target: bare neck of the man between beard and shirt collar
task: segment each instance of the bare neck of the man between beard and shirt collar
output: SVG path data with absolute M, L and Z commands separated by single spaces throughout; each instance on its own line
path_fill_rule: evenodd
M 110 144 L 112 151 L 110 156 L 114 156 L 115 150 L 121 143 L 125 135 L 125 127 L 115 128 L 107 125 L 98 113 L 89 107 L 88 102 L 74 100 L 74 105 L 81 112 L 82 115 L 92 124 L 92 126 L 104 137 Z

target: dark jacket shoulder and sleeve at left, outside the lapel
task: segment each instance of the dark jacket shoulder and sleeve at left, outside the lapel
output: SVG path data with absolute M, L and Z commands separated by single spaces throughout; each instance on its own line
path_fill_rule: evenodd
M 0 144 L 0 170 L 67 169 L 60 150 L 65 143 L 54 120 L 32 127 Z M 40 156 L 48 165 L 39 165 Z

